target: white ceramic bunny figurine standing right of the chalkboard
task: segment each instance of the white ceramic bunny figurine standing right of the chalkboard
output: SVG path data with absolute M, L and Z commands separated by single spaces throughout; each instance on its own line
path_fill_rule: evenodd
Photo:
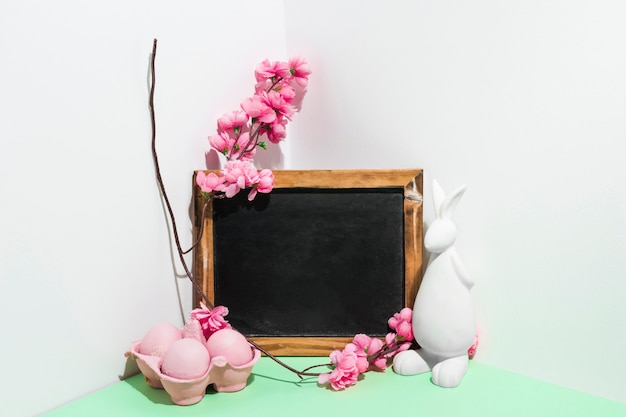
M 413 307 L 413 333 L 421 349 L 401 352 L 393 361 L 394 371 L 401 375 L 431 370 L 433 383 L 442 387 L 461 383 L 476 334 L 470 299 L 474 282 L 454 249 L 456 227 L 451 220 L 465 188 L 446 197 L 433 181 L 436 219 L 424 237 L 431 260 Z

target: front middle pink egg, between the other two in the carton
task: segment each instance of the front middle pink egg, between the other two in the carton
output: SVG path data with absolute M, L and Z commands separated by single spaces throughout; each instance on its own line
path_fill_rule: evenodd
M 180 339 L 163 355 L 161 372 L 177 379 L 196 379 L 209 369 L 211 358 L 206 347 L 196 339 Z

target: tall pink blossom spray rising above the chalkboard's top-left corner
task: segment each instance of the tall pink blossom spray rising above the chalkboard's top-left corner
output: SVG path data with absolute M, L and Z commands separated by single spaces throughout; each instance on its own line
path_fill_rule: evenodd
M 196 183 L 206 198 L 223 193 L 230 198 L 250 188 L 248 200 L 257 193 L 269 193 L 274 175 L 268 169 L 256 170 L 253 165 L 257 147 L 266 148 L 261 138 L 278 144 L 286 136 L 286 126 L 298 111 L 311 75 L 309 64 L 299 56 L 287 62 L 264 60 L 254 71 L 255 93 L 240 104 L 241 110 L 224 114 L 217 120 L 217 134 L 209 136 L 209 144 L 226 157 L 220 173 L 198 173 Z

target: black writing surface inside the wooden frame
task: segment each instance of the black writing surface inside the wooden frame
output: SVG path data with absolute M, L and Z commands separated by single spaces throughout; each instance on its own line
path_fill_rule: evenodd
M 404 304 L 404 193 L 278 189 L 215 202 L 215 303 L 248 336 L 371 336 Z

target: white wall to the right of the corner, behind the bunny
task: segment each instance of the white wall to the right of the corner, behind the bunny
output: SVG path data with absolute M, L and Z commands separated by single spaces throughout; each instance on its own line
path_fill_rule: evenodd
M 626 3 L 286 4 L 292 166 L 466 183 L 476 360 L 626 402 Z

